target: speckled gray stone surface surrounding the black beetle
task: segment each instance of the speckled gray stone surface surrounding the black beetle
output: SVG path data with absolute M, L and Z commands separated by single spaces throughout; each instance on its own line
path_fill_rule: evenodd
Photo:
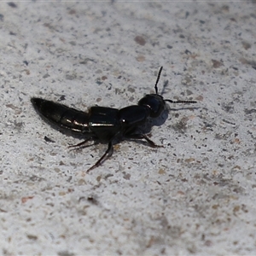
M 0 254 L 255 255 L 256 4 L 241 2 L 0 4 Z M 166 98 L 198 103 L 152 128 L 164 148 L 120 143 L 90 174 L 106 146 L 69 151 L 32 109 L 136 104 L 160 66 Z

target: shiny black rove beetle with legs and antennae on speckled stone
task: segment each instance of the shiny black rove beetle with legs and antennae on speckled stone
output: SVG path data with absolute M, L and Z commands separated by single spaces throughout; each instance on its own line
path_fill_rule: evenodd
M 160 67 L 154 85 L 155 93 L 144 96 L 137 105 L 121 109 L 96 106 L 91 107 L 86 113 L 41 98 L 32 98 L 31 102 L 39 115 L 57 130 L 72 131 L 85 138 L 84 142 L 70 146 L 70 148 L 85 148 L 85 144 L 90 140 L 97 143 L 108 143 L 106 152 L 96 161 L 94 166 L 87 170 L 90 172 L 113 154 L 113 141 L 118 138 L 145 139 L 149 146 L 160 147 L 151 141 L 146 134 L 139 131 L 139 126 L 144 125 L 148 118 L 160 117 L 166 109 L 166 102 L 196 103 L 195 101 L 172 101 L 160 96 L 157 84 L 162 69 L 163 67 Z

